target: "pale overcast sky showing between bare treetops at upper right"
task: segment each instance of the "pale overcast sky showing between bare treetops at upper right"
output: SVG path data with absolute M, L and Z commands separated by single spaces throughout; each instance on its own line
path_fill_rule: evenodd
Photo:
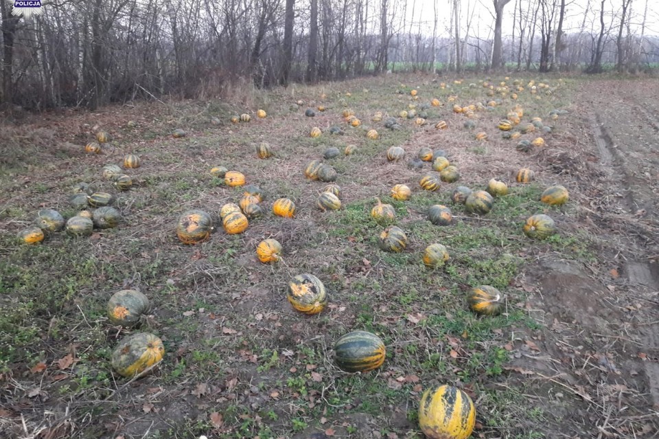
M 404 1 L 404 0 L 400 0 Z M 408 20 L 412 17 L 412 9 L 414 8 L 413 21 L 415 27 L 420 22 L 426 32 L 432 34 L 433 25 L 433 2 L 437 1 L 437 9 L 439 10 L 439 24 L 437 33 L 439 35 L 446 34 L 446 30 L 450 27 L 450 11 L 452 10 L 452 0 L 406 0 L 406 16 Z M 518 0 L 520 1 L 520 0 Z M 534 0 L 521 0 L 522 10 L 526 10 L 529 1 L 535 3 Z M 548 0 L 551 1 L 551 0 Z M 560 0 L 555 0 L 560 3 Z M 647 2 L 647 22 L 646 22 L 646 35 L 659 34 L 659 0 L 632 0 L 632 32 L 640 34 L 641 23 L 643 23 L 643 12 Z M 586 8 L 588 14 L 586 14 Z M 504 35 L 511 34 L 513 28 L 513 10 L 515 9 L 516 0 L 511 0 L 505 7 L 505 18 L 503 23 Z M 595 29 L 599 32 L 599 8 L 601 0 L 566 0 L 566 18 L 563 25 L 565 32 L 577 32 L 581 23 L 583 22 L 584 14 L 586 14 L 586 30 L 590 30 L 592 23 L 595 23 Z M 605 0 L 605 23 L 610 25 L 613 16 L 619 16 L 618 11 L 621 10 L 622 0 Z M 519 6 L 518 6 L 519 8 Z M 467 19 L 474 12 L 474 21 L 472 22 L 471 34 L 480 34 L 481 37 L 487 37 L 490 28 L 494 26 L 494 19 L 492 18 L 492 0 L 461 0 L 461 23 L 466 27 Z M 615 21 L 618 21 L 616 19 Z M 409 23 L 409 21 L 408 21 Z M 478 30 L 477 30 L 478 28 Z M 426 33 L 424 32 L 424 33 Z

